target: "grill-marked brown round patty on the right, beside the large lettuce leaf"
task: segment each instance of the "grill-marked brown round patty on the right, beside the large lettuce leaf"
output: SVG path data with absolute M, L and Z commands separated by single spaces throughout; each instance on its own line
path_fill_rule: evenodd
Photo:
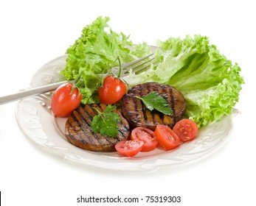
M 148 110 L 142 100 L 136 98 L 136 96 L 145 96 L 151 92 L 157 92 L 167 100 L 168 107 L 173 109 L 173 115 L 167 116 L 157 110 Z M 128 93 L 122 99 L 122 114 L 132 127 L 155 129 L 157 124 L 167 124 L 173 127 L 176 121 L 182 118 L 185 108 L 184 96 L 178 90 L 156 82 L 136 85 L 128 90 Z

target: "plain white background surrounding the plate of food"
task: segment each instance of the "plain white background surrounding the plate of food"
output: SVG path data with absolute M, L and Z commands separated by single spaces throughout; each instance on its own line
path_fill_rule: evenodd
M 89 205 L 76 202 L 80 195 L 181 196 L 181 203 L 176 205 L 255 205 L 253 3 L 1 0 L 1 96 L 27 88 L 32 74 L 44 63 L 64 54 L 80 36 L 83 26 L 99 15 L 109 16 L 111 28 L 130 34 L 134 43 L 145 41 L 154 45 L 157 39 L 170 36 L 207 35 L 222 54 L 241 66 L 246 81 L 240 102 L 235 106 L 241 114 L 235 116 L 232 137 L 224 147 L 190 166 L 146 174 L 66 163 L 44 152 L 21 133 L 15 121 L 17 102 L 0 105 L 2 205 Z

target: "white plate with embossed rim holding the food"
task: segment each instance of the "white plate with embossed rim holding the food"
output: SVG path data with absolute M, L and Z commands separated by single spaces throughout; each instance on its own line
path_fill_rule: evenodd
M 31 87 L 62 80 L 59 71 L 66 56 L 46 63 L 32 77 Z M 64 135 L 66 118 L 55 118 L 50 109 L 51 95 L 23 99 L 15 108 L 21 131 L 46 151 L 58 154 L 64 160 L 97 168 L 120 171 L 155 171 L 165 166 L 182 166 L 201 160 L 226 143 L 232 131 L 232 116 L 200 129 L 197 138 L 179 148 L 166 152 L 160 147 L 152 152 L 140 152 L 133 158 L 120 157 L 117 152 L 88 152 L 69 143 Z

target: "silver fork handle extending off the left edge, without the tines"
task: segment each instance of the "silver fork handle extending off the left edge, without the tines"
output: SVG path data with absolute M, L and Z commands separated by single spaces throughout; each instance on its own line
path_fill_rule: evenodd
M 41 93 L 46 93 L 46 92 L 50 92 L 52 90 L 56 90 L 60 85 L 66 83 L 66 81 L 63 82 L 56 82 L 50 85 L 44 85 L 38 88 L 31 88 L 28 90 L 22 90 L 18 93 L 13 93 L 7 96 L 0 96 L 0 105 L 1 104 L 6 104 L 9 102 L 13 102 L 16 101 L 18 99 L 23 99 L 29 96 L 35 96 Z

